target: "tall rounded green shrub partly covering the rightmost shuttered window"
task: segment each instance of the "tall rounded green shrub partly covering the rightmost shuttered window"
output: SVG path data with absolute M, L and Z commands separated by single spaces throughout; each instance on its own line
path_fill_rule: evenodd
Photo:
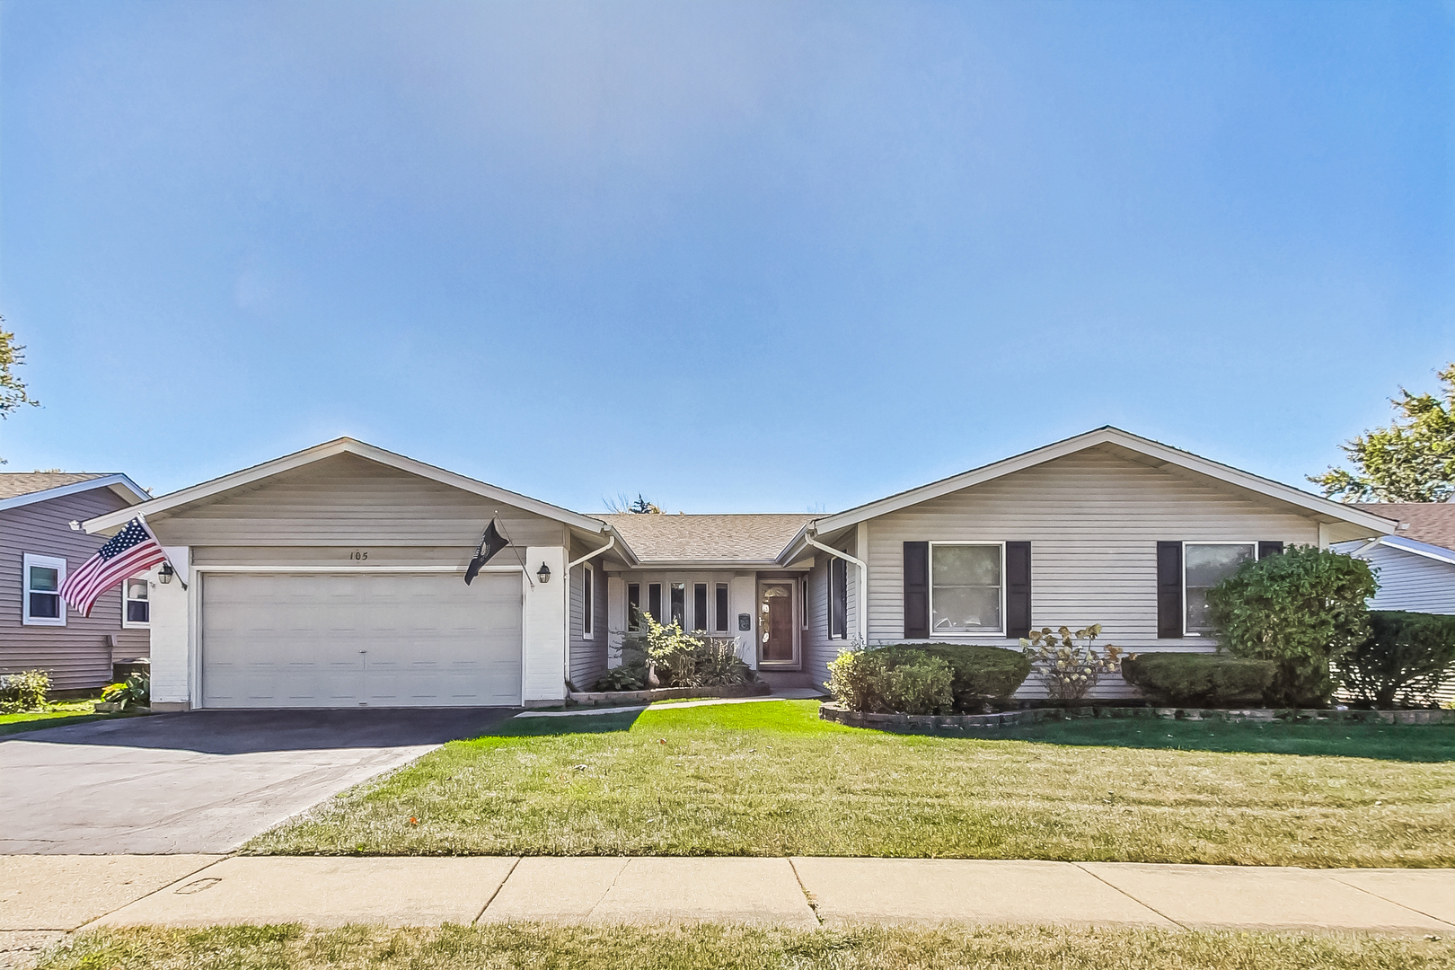
M 1277 665 L 1269 702 L 1311 707 L 1334 692 L 1330 665 L 1369 636 L 1365 601 L 1376 589 L 1363 560 L 1295 545 L 1244 563 L 1208 590 L 1208 605 L 1228 653 Z

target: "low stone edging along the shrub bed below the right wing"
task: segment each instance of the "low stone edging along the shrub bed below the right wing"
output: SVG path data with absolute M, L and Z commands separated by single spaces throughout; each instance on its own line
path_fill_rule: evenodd
M 1326 711 L 1326 710 L 1227 710 L 1212 711 L 1195 707 L 1033 707 L 998 714 L 864 714 L 850 711 L 842 704 L 819 705 L 819 720 L 850 727 L 873 727 L 883 731 L 927 730 L 986 730 L 1035 724 L 1037 721 L 1075 721 L 1093 717 L 1145 717 L 1164 721 L 1293 721 L 1299 724 L 1455 724 L 1455 710 L 1440 711 Z

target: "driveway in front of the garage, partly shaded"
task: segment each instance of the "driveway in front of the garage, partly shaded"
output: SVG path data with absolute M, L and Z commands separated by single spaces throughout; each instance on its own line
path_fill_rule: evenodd
M 227 852 L 511 708 L 196 711 L 0 740 L 0 854 Z

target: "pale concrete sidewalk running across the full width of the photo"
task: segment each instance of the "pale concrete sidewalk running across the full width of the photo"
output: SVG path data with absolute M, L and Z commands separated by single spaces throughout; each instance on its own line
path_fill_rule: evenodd
M 0 931 L 709 921 L 1455 932 L 1455 870 L 866 858 L 3 857 Z

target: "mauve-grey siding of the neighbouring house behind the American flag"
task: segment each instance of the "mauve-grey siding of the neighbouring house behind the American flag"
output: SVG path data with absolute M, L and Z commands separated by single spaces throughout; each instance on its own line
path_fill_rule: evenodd
M 0 673 L 41 668 L 55 689 L 73 691 L 111 684 L 112 660 L 148 654 L 146 630 L 122 630 L 121 588 L 109 590 L 90 617 L 67 611 L 64 627 L 26 627 L 22 617 L 22 563 L 25 553 L 65 558 L 67 570 L 96 554 L 100 535 L 71 531 L 81 521 L 127 508 L 111 489 L 93 489 L 0 512 Z M 116 636 L 116 649 L 106 646 Z

